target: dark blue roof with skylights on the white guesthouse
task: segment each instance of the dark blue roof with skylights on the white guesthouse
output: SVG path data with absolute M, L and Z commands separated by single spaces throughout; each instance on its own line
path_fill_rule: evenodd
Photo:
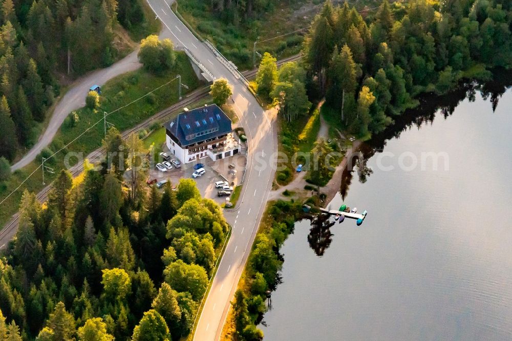
M 178 116 L 164 124 L 182 146 L 202 142 L 231 133 L 231 120 L 217 106 L 201 106 Z

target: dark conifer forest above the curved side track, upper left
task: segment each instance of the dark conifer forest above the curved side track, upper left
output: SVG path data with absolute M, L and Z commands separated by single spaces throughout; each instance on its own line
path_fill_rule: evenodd
M 138 0 L 3 0 L 0 7 L 0 157 L 12 161 L 37 140 L 62 79 L 129 52 L 115 31 L 145 18 Z

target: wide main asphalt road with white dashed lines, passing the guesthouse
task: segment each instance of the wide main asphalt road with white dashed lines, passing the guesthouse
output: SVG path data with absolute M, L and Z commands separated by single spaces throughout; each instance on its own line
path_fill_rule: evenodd
M 244 84 L 187 29 L 164 0 L 147 1 L 172 33 L 171 39 L 175 46 L 189 49 L 216 78 L 226 78 L 233 86 L 234 106 L 248 137 L 247 173 L 241 203 L 236 211 L 224 213 L 233 228 L 232 235 L 212 282 L 194 335 L 194 339 L 200 341 L 217 340 L 271 190 L 274 177 L 271 167 L 272 154 L 277 150 L 275 119 L 263 111 Z M 262 166 L 263 163 L 266 166 Z

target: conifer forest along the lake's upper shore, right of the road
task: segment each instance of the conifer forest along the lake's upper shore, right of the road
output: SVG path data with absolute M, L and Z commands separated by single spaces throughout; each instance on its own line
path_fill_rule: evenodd
M 327 2 L 305 39 L 308 95 L 345 130 L 382 132 L 418 95 L 512 67 L 511 23 L 506 0 L 386 0 L 366 18 Z

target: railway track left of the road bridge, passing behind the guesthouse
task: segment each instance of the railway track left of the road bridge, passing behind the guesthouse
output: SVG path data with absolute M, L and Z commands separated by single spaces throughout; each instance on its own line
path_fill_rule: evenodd
M 121 133 L 121 136 L 123 139 L 127 139 L 132 133 L 136 133 L 142 129 L 145 129 L 146 127 L 150 126 L 153 122 L 161 120 L 173 112 L 177 111 L 180 108 L 183 108 L 186 105 L 192 104 L 196 102 L 197 100 L 200 100 L 202 98 L 205 98 L 208 96 L 209 87 L 197 90 L 196 92 L 191 93 L 186 97 L 185 99 L 181 100 L 180 102 L 169 106 L 169 108 L 162 110 L 161 112 L 153 115 L 152 117 L 146 119 L 142 123 L 137 124 L 133 128 L 126 130 Z M 91 162 L 94 162 L 95 160 L 101 160 L 102 156 L 104 154 L 103 148 L 98 148 L 94 152 L 90 153 L 87 156 L 87 159 Z M 75 166 L 71 167 L 69 169 L 71 175 L 74 177 L 77 177 L 80 173 L 83 171 L 83 163 L 77 163 Z M 38 194 L 37 194 L 37 200 L 40 203 L 45 202 L 48 199 L 48 194 L 50 192 L 50 189 L 52 188 L 51 184 L 43 188 Z M 12 238 L 12 233 L 15 231 L 18 227 L 18 221 L 19 221 L 19 212 L 16 212 L 15 215 L 12 216 L 11 220 L 4 226 L 2 231 L 0 231 L 0 249 L 3 249 L 9 240 Z

